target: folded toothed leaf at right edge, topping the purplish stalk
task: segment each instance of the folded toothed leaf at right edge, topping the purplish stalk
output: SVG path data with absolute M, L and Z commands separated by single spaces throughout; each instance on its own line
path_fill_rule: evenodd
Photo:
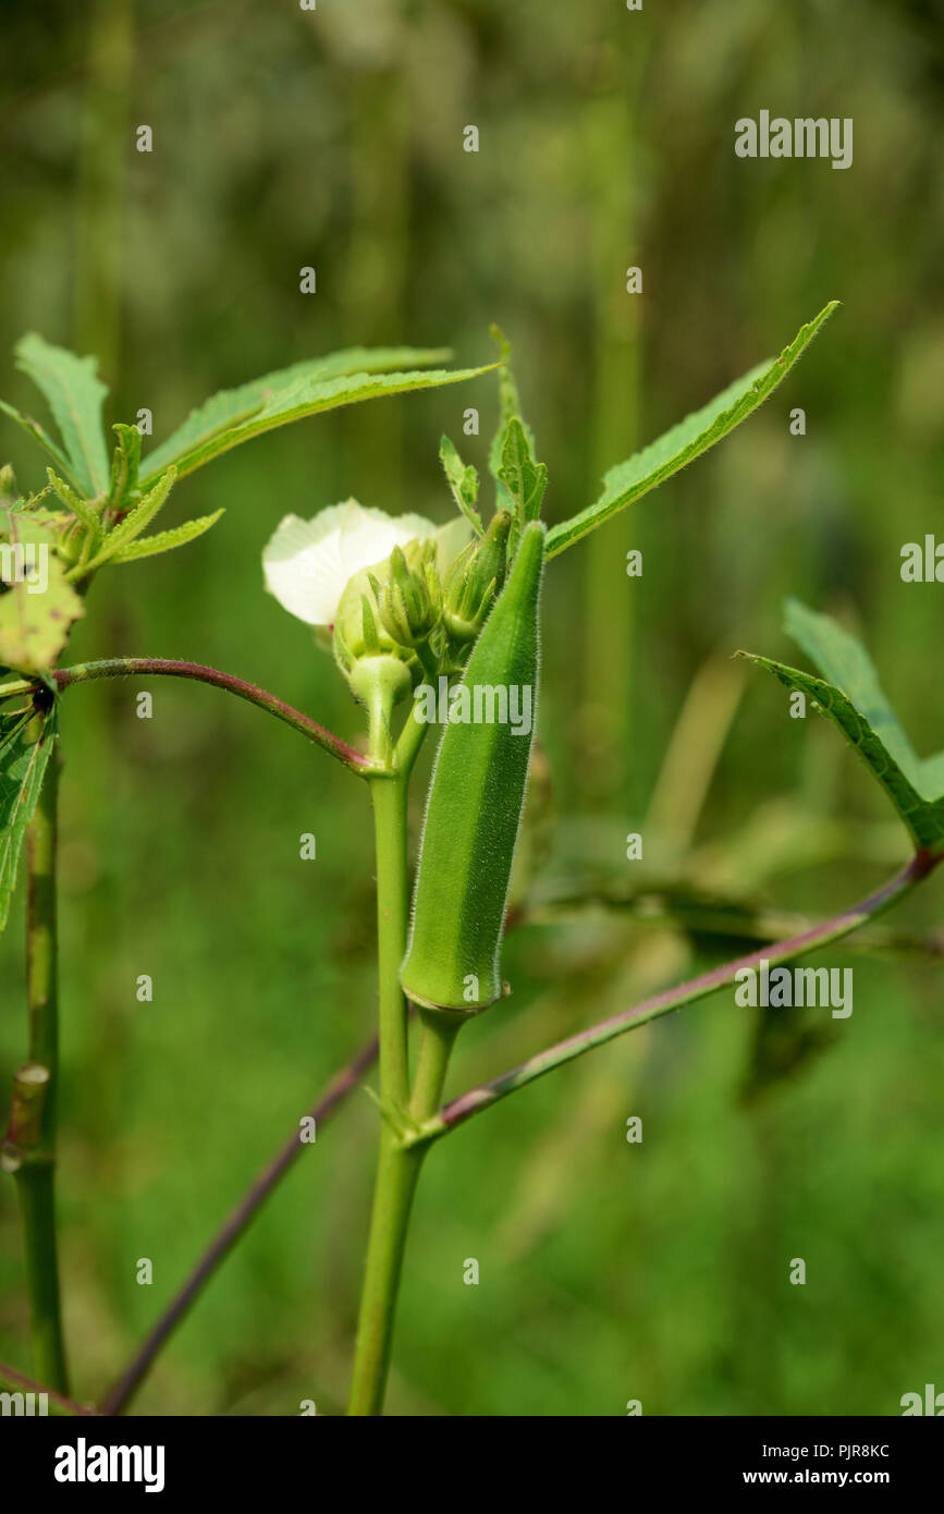
M 944 784 L 932 787 L 938 759 L 923 763 L 888 704 L 865 648 L 826 615 L 790 601 L 788 630 L 829 678 L 753 653 L 738 653 L 797 689 L 826 715 L 882 784 L 917 846 L 944 845 Z M 838 681 L 843 680 L 843 687 Z

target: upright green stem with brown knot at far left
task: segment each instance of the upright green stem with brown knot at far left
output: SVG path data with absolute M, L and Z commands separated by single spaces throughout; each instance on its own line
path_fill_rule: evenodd
M 27 998 L 32 1070 L 45 1069 L 38 1123 L 17 1148 L 15 1178 L 30 1302 L 33 1370 L 68 1393 L 59 1261 L 56 1254 L 56 1104 L 59 1092 L 59 993 L 56 963 L 56 810 L 59 754 L 53 751 L 29 828 Z M 29 1072 L 30 1069 L 24 1069 Z

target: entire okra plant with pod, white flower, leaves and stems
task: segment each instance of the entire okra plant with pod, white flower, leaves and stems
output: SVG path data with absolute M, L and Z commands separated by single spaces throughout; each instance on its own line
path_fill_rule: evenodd
M 776 966 L 838 940 L 923 880 L 944 855 L 944 757 L 920 760 L 885 699 L 864 648 L 828 616 L 797 603 L 788 631 L 817 675 L 755 657 L 803 693 L 883 786 L 914 843 L 903 871 L 861 904 L 800 934 L 628 1007 L 536 1052 L 522 1066 L 443 1104 L 461 1026 L 511 992 L 502 936 L 516 846 L 528 827 L 542 666 L 542 593 L 554 559 L 723 439 L 781 383 L 834 310 L 826 306 L 779 357 L 731 385 L 643 451 L 610 469 L 599 498 L 557 524 L 543 519 L 548 471 L 536 456 L 510 350 L 472 369 L 433 363 L 413 348 L 351 350 L 297 363 L 215 395 L 142 456 L 138 427 L 116 424 L 109 456 L 106 395 L 92 359 L 38 336 L 17 360 L 39 386 L 59 436 L 2 409 L 47 453 L 47 481 L 20 492 L 0 474 L 0 928 L 24 840 L 27 872 L 27 1025 L 14 1076 L 3 1169 L 18 1188 L 32 1370 L 61 1413 L 76 1413 L 61 1322 L 54 1172 L 57 1066 L 56 805 L 59 702 L 95 678 L 168 675 L 206 681 L 298 730 L 362 780 L 374 810 L 377 875 L 377 1036 L 315 1105 L 325 1119 L 375 1055 L 378 1158 L 354 1346 L 349 1413 L 380 1414 L 413 1196 L 431 1148 L 460 1123 L 604 1042 L 691 1004 L 761 963 Z M 490 450 L 493 509 L 451 441 L 440 459 L 452 516 L 436 525 L 349 500 L 313 519 L 286 516 L 262 553 L 266 589 L 312 627 L 312 657 L 333 656 L 360 709 L 362 734 L 333 736 L 312 716 L 245 680 L 195 663 L 123 657 L 62 666 L 71 627 L 94 603 L 95 577 L 210 530 L 221 512 L 151 533 L 174 483 L 253 436 L 303 416 L 386 394 L 475 380 L 493 371 L 501 419 Z M 446 494 L 446 489 L 443 489 Z M 747 654 L 741 654 L 747 656 Z M 272 650 L 275 662 L 275 650 Z M 416 759 L 437 727 L 422 836 L 413 858 L 407 799 Z M 413 866 L 415 864 L 415 866 Z M 413 872 L 413 881 L 411 881 Z M 511 986 L 513 987 L 513 986 Z M 410 1013 L 413 1007 L 413 1016 Z M 416 1045 L 411 1045 L 411 1042 Z M 298 1134 L 230 1217 L 129 1369 L 101 1400 L 121 1413 L 175 1323 L 239 1240 L 303 1149 Z M 23 1384 L 15 1369 L 0 1369 Z

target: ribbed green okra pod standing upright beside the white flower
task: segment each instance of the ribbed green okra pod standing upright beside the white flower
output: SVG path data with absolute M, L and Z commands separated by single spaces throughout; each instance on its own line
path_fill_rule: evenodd
M 433 768 L 410 940 L 415 1004 L 475 1013 L 502 996 L 501 942 L 537 724 L 545 527 L 525 527 L 446 718 Z M 445 680 L 440 680 L 445 681 Z

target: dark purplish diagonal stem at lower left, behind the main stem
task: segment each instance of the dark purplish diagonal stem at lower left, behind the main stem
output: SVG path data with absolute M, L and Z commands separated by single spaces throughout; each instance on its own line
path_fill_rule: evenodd
M 372 1064 L 375 1057 L 377 1037 L 372 1036 L 368 1045 L 360 1049 L 357 1057 L 354 1057 L 346 1067 L 342 1067 L 342 1070 L 331 1079 L 318 1104 L 315 1104 L 315 1107 L 309 1111 L 309 1119 L 313 1120 L 316 1126 L 333 1114 L 337 1105 L 348 1096 L 351 1089 L 357 1087 L 360 1078 Z M 154 1325 L 154 1329 L 150 1332 L 127 1369 L 121 1373 L 115 1385 L 103 1399 L 103 1414 L 124 1413 L 151 1370 L 151 1366 L 163 1346 L 166 1346 L 180 1322 L 189 1314 L 200 1294 L 233 1251 L 236 1241 L 248 1229 L 250 1222 L 256 1217 L 269 1193 L 272 1193 L 272 1190 L 281 1182 L 286 1172 L 293 1166 L 303 1151 L 306 1151 L 306 1143 L 300 1140 L 300 1131 L 297 1128 L 292 1131 L 284 1146 L 281 1146 L 275 1157 L 262 1169 L 250 1192 L 239 1201 L 227 1222 L 216 1232 L 183 1287 L 175 1293 L 174 1299 Z

